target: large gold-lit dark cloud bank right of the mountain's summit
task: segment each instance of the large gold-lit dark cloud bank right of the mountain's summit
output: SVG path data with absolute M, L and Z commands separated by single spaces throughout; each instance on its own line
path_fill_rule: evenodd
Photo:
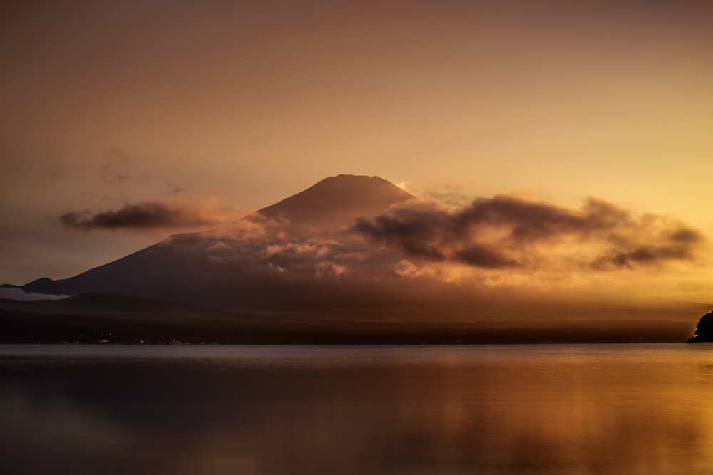
M 570 209 L 503 195 L 461 207 L 406 202 L 357 219 L 351 230 L 425 261 L 486 269 L 660 266 L 692 261 L 704 241 L 665 214 L 633 214 L 593 198 Z

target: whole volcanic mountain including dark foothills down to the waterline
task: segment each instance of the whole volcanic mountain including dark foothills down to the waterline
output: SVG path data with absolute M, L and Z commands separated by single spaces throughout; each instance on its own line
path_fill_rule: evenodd
M 411 199 L 379 177 L 329 177 L 219 229 L 175 234 L 78 276 L 21 286 L 74 297 L 0 299 L 0 343 L 684 341 L 709 311 L 675 301 L 491 298 L 491 289 L 439 274 L 438 261 L 419 267 L 397 246 L 359 233 Z

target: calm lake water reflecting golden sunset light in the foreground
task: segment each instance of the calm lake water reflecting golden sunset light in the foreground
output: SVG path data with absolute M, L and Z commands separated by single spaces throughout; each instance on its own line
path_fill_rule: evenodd
M 713 473 L 713 345 L 0 345 L 7 474 Z

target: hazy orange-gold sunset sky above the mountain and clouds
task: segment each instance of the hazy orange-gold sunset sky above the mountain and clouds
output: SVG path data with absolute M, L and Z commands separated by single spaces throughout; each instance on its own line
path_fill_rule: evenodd
M 713 237 L 712 21 L 699 1 L 4 2 L 0 283 L 162 237 L 62 229 L 73 210 L 240 217 L 339 173 L 599 197 Z M 674 296 L 713 301 L 712 267 L 667 276 Z

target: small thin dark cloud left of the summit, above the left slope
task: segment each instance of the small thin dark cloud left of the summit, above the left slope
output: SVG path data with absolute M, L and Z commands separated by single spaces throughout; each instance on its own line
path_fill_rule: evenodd
M 218 221 L 202 207 L 179 202 L 142 201 L 92 214 L 72 211 L 59 217 L 69 229 L 156 229 L 212 226 Z

